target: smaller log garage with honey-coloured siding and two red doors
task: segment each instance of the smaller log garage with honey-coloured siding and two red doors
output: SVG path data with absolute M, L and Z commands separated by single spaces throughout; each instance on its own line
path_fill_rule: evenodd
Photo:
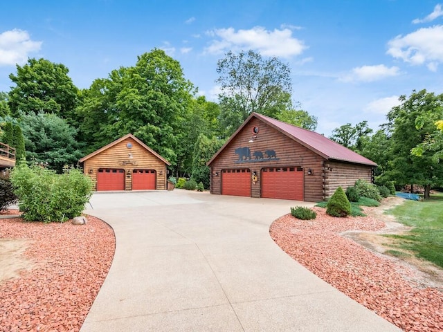
M 80 159 L 97 191 L 165 190 L 168 160 L 127 134 Z

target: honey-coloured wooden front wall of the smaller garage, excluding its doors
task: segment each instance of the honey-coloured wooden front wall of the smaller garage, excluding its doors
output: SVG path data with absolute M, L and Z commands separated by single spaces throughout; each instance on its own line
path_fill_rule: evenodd
M 127 143 L 132 144 L 131 149 L 126 146 Z M 132 158 L 129 158 L 129 154 L 132 154 Z M 100 168 L 125 169 L 125 190 L 132 190 L 133 169 L 155 169 L 156 189 L 166 189 L 167 169 L 165 163 L 132 138 L 127 138 L 84 161 L 84 174 L 87 174 L 94 183 L 97 183 L 97 172 Z M 90 169 L 92 169 L 92 173 L 90 173 Z

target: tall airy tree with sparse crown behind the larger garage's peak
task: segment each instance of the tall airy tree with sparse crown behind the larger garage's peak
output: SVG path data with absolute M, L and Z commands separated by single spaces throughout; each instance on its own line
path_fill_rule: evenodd
M 229 51 L 217 62 L 221 126 L 230 136 L 252 112 L 277 118 L 291 109 L 291 70 L 278 58 L 253 50 Z

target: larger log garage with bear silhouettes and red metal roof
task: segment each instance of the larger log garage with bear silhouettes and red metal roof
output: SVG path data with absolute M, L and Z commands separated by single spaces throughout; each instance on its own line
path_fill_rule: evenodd
M 211 194 L 322 201 L 377 164 L 319 133 L 252 113 L 208 162 Z

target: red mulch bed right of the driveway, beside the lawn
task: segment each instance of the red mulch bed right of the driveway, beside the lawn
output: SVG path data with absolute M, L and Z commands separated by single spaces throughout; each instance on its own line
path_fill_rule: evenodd
M 347 296 L 404 331 L 443 331 L 443 290 L 423 288 L 415 274 L 393 259 L 377 255 L 340 235 L 349 230 L 381 230 L 372 216 L 334 218 L 314 208 L 317 218 L 291 214 L 271 225 L 273 240 L 288 255 Z

